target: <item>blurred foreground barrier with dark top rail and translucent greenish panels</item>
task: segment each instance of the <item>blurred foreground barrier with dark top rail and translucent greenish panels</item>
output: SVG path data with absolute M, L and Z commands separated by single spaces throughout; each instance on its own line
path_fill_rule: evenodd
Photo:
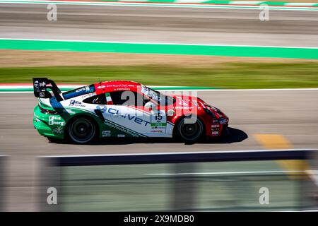
M 314 209 L 312 153 L 317 150 L 40 157 L 40 210 Z M 57 205 L 47 203 L 49 188 L 57 191 Z

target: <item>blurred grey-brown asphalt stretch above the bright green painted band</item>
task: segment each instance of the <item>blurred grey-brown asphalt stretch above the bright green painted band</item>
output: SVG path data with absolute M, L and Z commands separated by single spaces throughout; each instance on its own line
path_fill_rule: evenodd
M 0 4 L 0 38 L 318 47 L 317 11 Z

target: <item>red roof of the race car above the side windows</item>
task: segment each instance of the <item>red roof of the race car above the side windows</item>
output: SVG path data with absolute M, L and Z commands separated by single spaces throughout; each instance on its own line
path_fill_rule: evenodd
M 133 81 L 106 81 L 95 83 L 94 85 L 96 94 L 122 90 L 138 92 L 138 90 L 141 89 L 141 83 L 136 83 Z

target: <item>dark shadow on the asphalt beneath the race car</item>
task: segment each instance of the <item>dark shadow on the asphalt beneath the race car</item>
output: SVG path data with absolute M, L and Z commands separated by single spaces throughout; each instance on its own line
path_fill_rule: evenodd
M 235 129 L 229 127 L 229 134 L 221 138 L 207 138 L 203 141 L 198 141 L 196 143 L 238 143 L 244 141 L 248 138 L 247 133 L 240 129 Z M 172 138 L 102 138 L 98 141 L 94 141 L 87 145 L 127 145 L 132 143 L 183 143 L 182 141 L 177 141 Z M 192 145 L 194 143 L 185 143 L 186 145 Z

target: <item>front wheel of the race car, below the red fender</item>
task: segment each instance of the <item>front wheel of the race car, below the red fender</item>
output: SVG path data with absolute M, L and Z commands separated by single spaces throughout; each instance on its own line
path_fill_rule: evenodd
M 177 136 L 184 143 L 195 143 L 204 134 L 204 124 L 200 119 L 196 119 L 194 123 L 185 123 L 186 119 L 189 118 L 183 118 L 177 124 Z

